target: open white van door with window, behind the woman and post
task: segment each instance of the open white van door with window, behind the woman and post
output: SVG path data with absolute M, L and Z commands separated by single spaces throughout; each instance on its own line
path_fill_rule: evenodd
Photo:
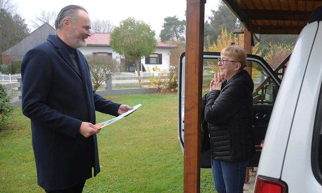
M 179 126 L 178 139 L 182 152 L 184 152 L 184 102 L 185 102 L 185 53 L 180 56 L 179 67 Z M 215 72 L 218 72 L 217 58 L 220 58 L 219 52 L 204 52 L 203 54 L 203 77 L 202 92 L 203 95 L 209 91 L 210 81 Z M 257 167 L 261 155 L 261 143 L 264 141 L 268 122 L 271 117 L 276 95 L 281 83 L 280 78 L 268 65 L 268 63 L 259 56 L 247 55 L 248 68 L 251 68 L 252 79 L 254 81 L 253 92 L 253 125 L 252 129 L 255 138 L 256 153 L 249 161 L 249 167 Z M 209 143 L 208 131 L 202 131 L 203 144 Z M 200 157 L 200 167 L 211 168 L 211 150 L 202 151 Z

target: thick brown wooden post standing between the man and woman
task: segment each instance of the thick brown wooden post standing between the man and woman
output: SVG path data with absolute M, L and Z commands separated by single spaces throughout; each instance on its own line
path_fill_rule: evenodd
M 200 191 L 204 1 L 187 0 L 184 192 Z

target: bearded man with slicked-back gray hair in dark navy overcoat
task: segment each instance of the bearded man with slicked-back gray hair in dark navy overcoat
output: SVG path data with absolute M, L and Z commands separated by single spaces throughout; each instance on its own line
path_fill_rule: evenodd
M 118 116 L 131 107 L 92 88 L 89 65 L 77 48 L 91 36 L 88 12 L 63 8 L 57 35 L 29 50 L 22 61 L 22 111 L 31 119 L 37 181 L 46 192 L 82 192 L 100 172 L 95 111 Z

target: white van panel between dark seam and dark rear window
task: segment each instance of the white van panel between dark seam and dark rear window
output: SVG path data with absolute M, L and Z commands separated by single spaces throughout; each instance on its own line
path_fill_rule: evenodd
M 320 22 L 321 23 L 321 22 Z M 311 168 L 311 145 L 322 81 L 322 25 L 307 64 L 290 131 L 281 178 L 289 192 L 322 192 Z

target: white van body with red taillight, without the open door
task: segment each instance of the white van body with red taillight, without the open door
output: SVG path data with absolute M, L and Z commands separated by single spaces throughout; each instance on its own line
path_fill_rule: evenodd
M 322 192 L 322 7 L 303 28 L 269 122 L 255 192 Z

